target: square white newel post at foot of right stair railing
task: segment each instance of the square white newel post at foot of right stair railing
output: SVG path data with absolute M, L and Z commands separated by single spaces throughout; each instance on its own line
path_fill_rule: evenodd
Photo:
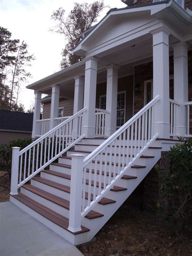
M 83 183 L 83 158 L 81 154 L 72 154 L 70 180 L 69 226 L 71 232 L 81 231 L 81 201 Z

